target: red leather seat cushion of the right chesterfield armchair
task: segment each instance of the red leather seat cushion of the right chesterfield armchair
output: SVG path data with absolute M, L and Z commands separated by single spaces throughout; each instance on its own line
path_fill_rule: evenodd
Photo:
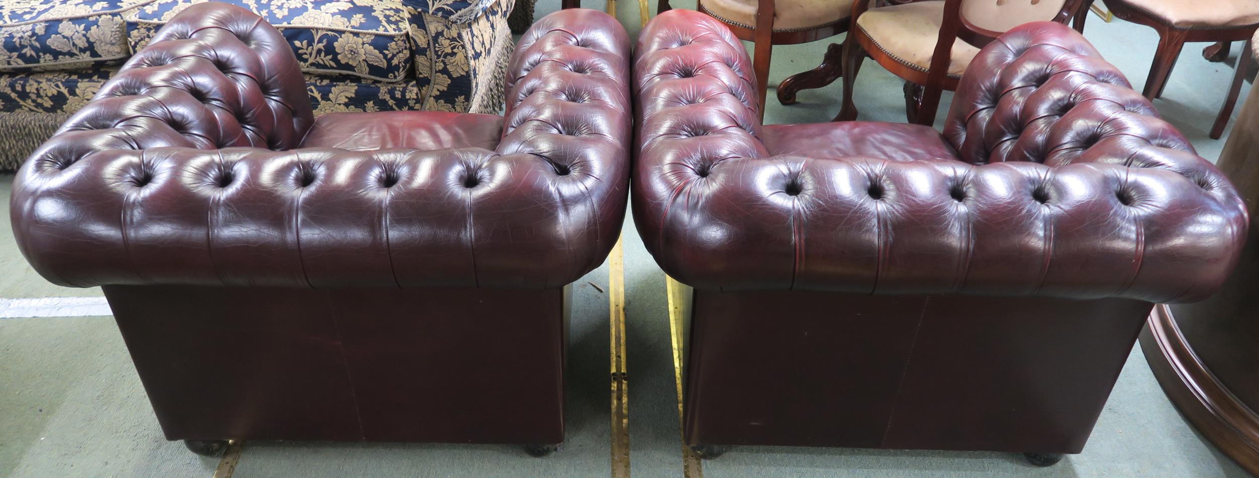
M 808 157 L 870 156 L 895 161 L 957 161 L 957 152 L 935 128 L 880 121 L 771 125 L 760 130 L 771 155 Z

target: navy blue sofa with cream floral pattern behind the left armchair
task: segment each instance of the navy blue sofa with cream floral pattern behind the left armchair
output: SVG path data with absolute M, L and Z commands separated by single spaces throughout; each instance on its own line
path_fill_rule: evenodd
M 0 0 L 0 170 L 13 170 L 171 16 L 205 0 Z M 514 0 L 229 0 L 292 45 L 315 113 L 497 112 Z

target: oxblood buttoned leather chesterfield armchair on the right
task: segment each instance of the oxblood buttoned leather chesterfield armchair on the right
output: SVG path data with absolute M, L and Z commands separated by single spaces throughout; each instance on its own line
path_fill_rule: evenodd
M 762 126 L 743 45 L 636 50 L 635 220 L 692 287 L 686 442 L 1079 453 L 1152 303 L 1236 260 L 1234 187 L 1071 29 L 987 45 L 944 135 Z M 689 293 L 687 293 L 689 292 Z

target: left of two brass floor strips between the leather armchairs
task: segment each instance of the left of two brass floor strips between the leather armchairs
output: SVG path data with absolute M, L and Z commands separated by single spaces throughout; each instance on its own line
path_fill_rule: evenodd
M 609 1 L 611 4 L 611 1 Z M 626 374 L 626 273 L 621 239 L 608 260 L 608 320 L 612 369 L 612 478 L 630 478 L 630 376 Z

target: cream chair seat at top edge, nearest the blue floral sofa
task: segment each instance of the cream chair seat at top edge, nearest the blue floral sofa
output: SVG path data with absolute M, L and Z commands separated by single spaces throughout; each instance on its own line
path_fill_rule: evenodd
M 754 29 L 757 0 L 703 0 L 700 10 L 729 24 Z M 808 30 L 845 21 L 852 0 L 779 0 L 774 3 L 774 31 Z

